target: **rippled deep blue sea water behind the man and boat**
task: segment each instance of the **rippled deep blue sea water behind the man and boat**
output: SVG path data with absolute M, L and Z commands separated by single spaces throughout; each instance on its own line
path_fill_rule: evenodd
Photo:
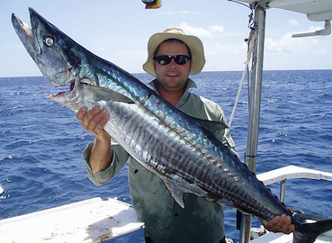
M 135 74 L 148 83 L 151 76 Z M 192 76 L 196 94 L 219 103 L 229 119 L 242 72 L 202 72 Z M 43 77 L 0 78 L 0 219 L 70 202 L 102 197 L 130 201 L 127 167 L 110 183 L 94 185 L 82 150 L 94 138 L 75 113 L 44 94 L 56 94 Z M 67 89 L 60 88 L 60 90 Z M 282 166 L 332 172 L 332 70 L 265 71 L 257 173 Z M 247 85 L 231 126 L 244 159 L 247 139 Z M 279 194 L 279 184 L 271 186 Z M 332 183 L 287 182 L 285 202 L 296 210 L 332 217 Z M 258 222 L 254 220 L 254 224 Z M 226 236 L 238 239 L 236 212 L 225 206 Z M 144 242 L 143 230 L 110 242 Z

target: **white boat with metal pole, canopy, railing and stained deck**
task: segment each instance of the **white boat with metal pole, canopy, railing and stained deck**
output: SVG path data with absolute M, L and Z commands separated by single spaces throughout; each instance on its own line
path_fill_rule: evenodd
M 148 8 L 160 7 L 161 0 L 142 0 Z M 233 1 L 235 2 L 235 1 Z M 293 37 L 312 35 L 328 35 L 331 32 L 332 19 L 331 0 L 267 0 L 238 1 L 249 4 L 255 12 L 251 36 L 252 45 L 248 52 L 248 62 L 252 61 L 249 121 L 247 131 L 247 152 L 245 163 L 256 172 L 257 140 L 259 130 L 263 56 L 265 44 L 265 14 L 269 8 L 281 8 L 307 14 L 310 21 L 323 22 L 320 31 L 296 33 Z M 249 45 L 250 46 L 250 45 Z M 257 177 L 265 184 L 281 183 L 281 201 L 284 199 L 285 182 L 294 178 L 327 180 L 332 182 L 332 173 L 286 166 Z M 240 243 L 288 243 L 292 242 L 292 234 L 265 233 L 255 236 L 251 229 L 251 218 L 242 220 Z M 248 222 L 248 223 L 245 223 Z M 75 202 L 44 211 L 0 220 L 0 242 L 103 242 L 123 234 L 138 230 L 144 226 L 130 204 L 109 199 L 93 198 L 83 202 Z M 254 239 L 250 237 L 254 236 Z M 317 238 L 317 243 L 332 242 L 332 230 Z

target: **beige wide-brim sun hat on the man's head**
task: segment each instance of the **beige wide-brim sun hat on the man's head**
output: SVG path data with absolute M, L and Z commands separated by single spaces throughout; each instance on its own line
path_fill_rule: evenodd
M 176 39 L 183 41 L 192 52 L 193 67 L 190 75 L 198 74 L 205 65 L 204 49 L 202 41 L 193 35 L 186 35 L 181 28 L 168 27 L 165 31 L 155 33 L 148 40 L 148 60 L 143 64 L 143 69 L 150 75 L 156 76 L 152 60 L 157 47 L 165 40 Z

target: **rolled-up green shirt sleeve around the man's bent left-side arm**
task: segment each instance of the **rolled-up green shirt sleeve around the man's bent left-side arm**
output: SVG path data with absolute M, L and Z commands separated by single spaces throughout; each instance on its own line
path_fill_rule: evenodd
M 87 168 L 87 175 L 94 184 L 105 184 L 112 180 L 112 178 L 119 173 L 121 168 L 125 166 L 130 155 L 123 148 L 121 148 L 118 144 L 115 143 L 114 145 L 112 145 L 111 165 L 108 166 L 105 170 L 93 174 L 89 161 L 91 149 L 93 148 L 93 146 L 94 142 L 91 142 L 83 151 L 83 156 L 85 158 L 85 166 Z

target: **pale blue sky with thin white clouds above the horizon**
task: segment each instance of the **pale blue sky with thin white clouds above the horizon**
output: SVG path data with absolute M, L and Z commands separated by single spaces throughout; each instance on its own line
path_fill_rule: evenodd
M 141 0 L 13 0 L 0 8 L 0 77 L 41 76 L 23 48 L 12 13 L 30 23 L 28 6 L 95 55 L 130 73 L 143 73 L 149 37 L 179 26 L 204 45 L 203 71 L 243 70 L 247 57 L 248 15 L 242 4 L 224 0 L 163 0 L 159 9 L 145 9 Z M 0 2 L 0 3 L 1 3 Z M 292 38 L 292 33 L 324 28 L 306 14 L 266 11 L 266 70 L 331 69 L 332 35 Z

